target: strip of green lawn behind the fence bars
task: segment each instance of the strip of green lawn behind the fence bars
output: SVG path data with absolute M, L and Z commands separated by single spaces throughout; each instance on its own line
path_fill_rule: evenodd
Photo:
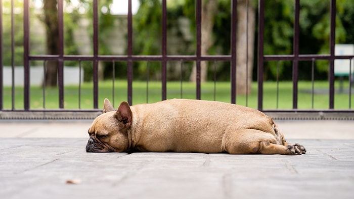
M 215 87 L 214 87 L 215 86 Z M 298 83 L 298 109 L 328 109 L 329 108 L 329 86 L 327 81 L 316 81 L 314 84 L 315 94 L 312 95 L 312 84 L 307 81 L 299 81 Z M 148 88 L 148 90 L 147 90 Z M 276 82 L 263 83 L 263 109 L 292 109 L 292 82 L 279 82 L 279 96 L 277 103 L 277 84 Z M 336 91 L 339 89 L 339 82 L 335 82 Z M 214 95 L 215 89 L 215 95 Z M 83 83 L 81 85 L 81 100 L 79 106 L 78 86 L 70 85 L 64 87 L 64 108 L 65 109 L 93 109 L 93 83 Z M 349 109 L 348 82 L 344 82 L 344 92 L 336 93 L 334 96 L 335 109 Z M 162 85 L 160 82 L 135 81 L 132 84 L 132 103 L 154 103 L 161 101 Z M 12 88 L 4 87 L 4 110 L 12 109 Z M 24 108 L 24 89 L 23 87 L 15 87 L 14 106 L 15 109 Z M 59 108 L 59 90 L 58 88 L 45 89 L 45 101 L 43 106 L 43 90 L 39 86 L 31 86 L 30 88 L 30 108 L 31 109 L 58 109 Z M 148 94 L 147 94 L 148 93 Z M 182 93 L 182 95 L 181 95 Z M 352 94 L 353 95 L 353 94 Z M 181 90 L 181 82 L 167 82 L 167 98 L 196 98 L 195 83 L 183 82 Z M 312 104 L 312 97 L 314 104 Z M 117 107 L 121 101 L 127 101 L 127 82 L 117 80 L 114 84 L 114 101 L 113 101 L 113 84 L 112 81 L 99 82 L 99 108 L 103 107 L 104 98 L 109 98 L 114 107 Z M 351 104 L 354 103 L 351 96 Z M 230 82 L 205 82 L 201 84 L 201 99 L 216 100 L 221 102 L 231 102 L 231 86 Z M 257 83 L 252 83 L 252 92 L 246 95 L 237 95 L 236 104 L 257 108 Z

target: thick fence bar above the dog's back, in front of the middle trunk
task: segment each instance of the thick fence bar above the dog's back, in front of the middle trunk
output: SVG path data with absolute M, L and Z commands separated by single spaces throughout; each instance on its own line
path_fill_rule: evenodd
M 200 100 L 200 60 L 201 60 L 201 23 L 202 23 L 202 1 L 197 0 L 196 4 L 196 25 L 197 25 L 197 60 L 196 60 L 196 84 L 197 84 L 197 90 L 196 90 L 196 98 L 197 100 Z

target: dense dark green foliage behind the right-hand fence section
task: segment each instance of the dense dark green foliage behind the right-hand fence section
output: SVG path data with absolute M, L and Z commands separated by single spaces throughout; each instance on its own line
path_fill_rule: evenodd
M 294 3 L 293 1 L 265 1 L 264 13 L 264 54 L 292 54 Z M 354 43 L 354 2 L 336 2 L 336 43 Z M 330 1 L 312 0 L 300 2 L 300 54 L 329 54 Z M 274 9 L 277 8 L 277 9 Z M 271 12 L 270 12 L 271 11 Z M 351 31 L 348 31 L 351 30 Z M 311 79 L 311 62 L 300 62 L 299 78 Z M 265 79 L 274 80 L 277 64 L 264 64 Z M 291 62 L 279 62 L 280 79 L 291 79 Z M 327 79 L 328 61 L 315 63 L 315 77 Z M 288 68 L 290 70 L 288 70 Z

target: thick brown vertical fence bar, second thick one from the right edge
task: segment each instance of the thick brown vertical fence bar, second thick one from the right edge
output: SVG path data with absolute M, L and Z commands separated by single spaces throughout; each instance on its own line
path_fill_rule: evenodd
M 295 0 L 295 16 L 294 16 L 294 40 L 293 40 L 293 68 L 292 68 L 292 82 L 293 82 L 293 91 L 292 91 L 292 108 L 297 109 L 297 91 L 298 91 L 298 64 L 299 64 L 299 16 L 300 16 L 300 0 Z

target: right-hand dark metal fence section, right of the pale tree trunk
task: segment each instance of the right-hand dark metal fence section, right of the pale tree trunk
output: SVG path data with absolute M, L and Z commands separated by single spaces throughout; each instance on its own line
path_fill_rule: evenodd
M 259 35 L 258 35 L 258 109 L 263 110 L 263 64 L 267 61 L 292 61 L 292 110 L 263 110 L 265 112 L 278 112 L 283 115 L 283 118 L 287 118 L 287 114 L 290 112 L 298 112 L 301 114 L 301 118 L 347 118 L 353 119 L 354 112 L 351 109 L 351 83 L 349 83 L 348 90 L 348 110 L 334 110 L 334 60 L 347 59 L 349 60 L 349 80 L 352 75 L 351 60 L 353 55 L 350 56 L 336 56 L 335 47 L 335 28 L 336 28 L 336 0 L 330 1 L 330 54 L 329 55 L 300 55 L 299 54 L 299 16 L 300 16 L 300 0 L 294 1 L 294 39 L 293 39 L 293 55 L 264 55 L 263 43 L 264 43 L 264 1 L 259 1 Z M 329 105 L 327 110 L 299 110 L 298 109 L 298 63 L 300 61 L 312 62 L 312 107 L 314 107 L 314 63 L 316 60 L 328 60 L 329 61 Z M 278 85 L 278 79 L 277 79 Z M 278 90 L 278 88 L 277 88 Z M 277 91 L 278 95 L 278 91 Z M 278 96 L 277 96 L 278 101 Z M 344 117 L 341 117 L 344 116 Z

